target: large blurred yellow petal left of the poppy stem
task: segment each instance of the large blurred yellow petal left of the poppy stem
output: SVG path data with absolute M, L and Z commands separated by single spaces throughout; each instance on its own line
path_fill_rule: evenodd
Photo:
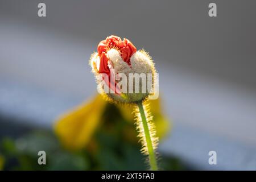
M 100 125 L 106 101 L 98 94 L 92 101 L 76 107 L 57 119 L 54 130 L 65 147 L 78 150 L 92 139 Z

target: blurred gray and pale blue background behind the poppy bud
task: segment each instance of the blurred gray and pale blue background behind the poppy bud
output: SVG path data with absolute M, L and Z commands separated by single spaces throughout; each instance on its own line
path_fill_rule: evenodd
M 208 16 L 210 2 L 217 17 Z M 217 169 L 255 169 L 255 7 L 254 0 L 0 0 L 0 114 L 51 127 L 96 93 L 88 59 L 100 40 L 118 35 L 155 60 L 174 125 L 160 150 L 204 169 L 215 168 L 208 151 L 216 150 Z

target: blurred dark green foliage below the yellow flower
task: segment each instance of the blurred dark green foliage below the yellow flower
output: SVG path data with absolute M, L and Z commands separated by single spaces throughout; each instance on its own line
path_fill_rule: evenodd
M 146 170 L 146 157 L 139 146 L 118 141 L 114 136 L 98 134 L 97 152 L 65 150 L 48 131 L 36 131 L 17 139 L 1 141 L 1 155 L 5 170 Z M 46 151 L 47 164 L 38 164 L 38 151 Z M 182 170 L 184 166 L 175 158 L 160 157 L 160 168 Z

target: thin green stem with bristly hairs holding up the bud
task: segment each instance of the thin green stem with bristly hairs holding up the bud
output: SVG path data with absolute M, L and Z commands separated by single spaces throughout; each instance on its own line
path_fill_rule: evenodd
M 158 165 L 156 163 L 154 148 L 153 148 L 152 140 L 151 140 L 151 136 L 150 136 L 150 130 L 148 129 L 148 123 L 147 123 L 147 119 L 146 119 L 146 115 L 144 112 L 142 101 L 137 102 L 137 105 L 139 107 L 139 113 L 141 113 L 144 134 L 145 134 L 146 142 L 147 142 L 148 157 L 150 159 L 150 167 L 151 167 L 151 170 L 157 171 Z

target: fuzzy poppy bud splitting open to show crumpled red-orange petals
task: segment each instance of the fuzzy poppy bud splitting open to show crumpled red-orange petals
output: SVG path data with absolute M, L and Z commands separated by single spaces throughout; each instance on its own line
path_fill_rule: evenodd
M 128 40 L 109 36 L 90 57 L 98 90 L 110 101 L 132 103 L 154 90 L 155 67 L 151 57 Z

